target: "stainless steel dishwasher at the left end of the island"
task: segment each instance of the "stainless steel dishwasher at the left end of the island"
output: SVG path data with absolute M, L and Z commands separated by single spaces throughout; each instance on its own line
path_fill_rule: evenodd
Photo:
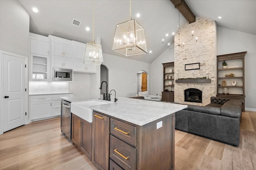
M 61 100 L 61 116 L 60 116 L 60 128 L 61 131 L 71 139 L 71 103 Z

